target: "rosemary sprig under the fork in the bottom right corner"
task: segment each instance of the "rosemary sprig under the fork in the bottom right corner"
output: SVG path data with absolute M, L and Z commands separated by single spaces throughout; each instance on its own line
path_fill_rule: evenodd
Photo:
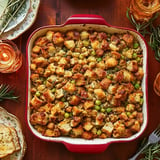
M 140 160 L 160 160 L 160 143 L 149 145 L 143 152 Z

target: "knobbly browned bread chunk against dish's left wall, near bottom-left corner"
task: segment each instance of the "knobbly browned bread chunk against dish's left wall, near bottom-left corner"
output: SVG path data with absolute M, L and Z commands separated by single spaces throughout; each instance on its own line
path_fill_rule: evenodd
M 48 123 L 48 118 L 48 114 L 45 112 L 35 112 L 31 114 L 30 121 L 33 125 L 46 125 Z

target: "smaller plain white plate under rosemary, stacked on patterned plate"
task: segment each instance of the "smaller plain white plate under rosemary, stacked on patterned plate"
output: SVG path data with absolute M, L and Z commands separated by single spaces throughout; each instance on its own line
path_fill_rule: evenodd
M 20 24 L 27 16 L 29 9 L 30 9 L 30 0 L 26 0 L 21 6 L 18 13 L 15 15 L 15 18 L 8 24 L 4 32 L 10 31 L 11 29 L 15 28 L 18 24 Z

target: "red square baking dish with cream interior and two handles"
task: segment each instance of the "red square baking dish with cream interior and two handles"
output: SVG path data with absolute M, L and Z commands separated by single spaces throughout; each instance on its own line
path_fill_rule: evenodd
M 37 37 L 43 35 L 48 30 L 52 31 L 66 31 L 66 30 L 87 30 L 87 29 L 94 29 L 96 31 L 104 31 L 104 32 L 110 32 L 110 33 L 126 33 L 130 32 L 133 34 L 139 41 L 141 48 L 143 49 L 143 70 L 144 70 L 144 77 L 142 81 L 142 90 L 144 92 L 144 103 L 143 103 L 143 116 L 144 116 L 144 122 L 141 126 L 141 130 L 134 134 L 133 136 L 129 138 L 106 138 L 106 139 L 92 139 L 92 140 L 86 140 L 82 138 L 70 138 L 70 137 L 45 137 L 38 133 L 33 126 L 30 123 L 30 54 L 31 54 L 31 48 L 33 46 L 34 41 Z M 69 151 L 72 152 L 83 152 L 83 153 L 97 153 L 105 151 L 105 149 L 108 147 L 111 143 L 119 143 L 119 142 L 128 142 L 137 139 L 145 130 L 147 126 L 148 121 L 148 115 L 147 115 L 147 106 L 148 106 L 148 93 L 147 93 L 147 45 L 144 40 L 144 38 L 135 30 L 129 29 L 129 28 L 123 28 L 123 27 L 115 27 L 109 25 L 104 18 L 98 15 L 73 15 L 67 19 L 67 21 L 62 25 L 49 25 L 49 26 L 43 26 L 38 29 L 36 29 L 29 37 L 27 41 L 26 46 L 26 53 L 27 53 L 27 97 L 26 97 L 26 121 L 28 124 L 29 129 L 31 132 L 37 136 L 38 138 L 45 140 L 45 141 L 51 141 L 51 142 L 61 142 L 63 143 Z

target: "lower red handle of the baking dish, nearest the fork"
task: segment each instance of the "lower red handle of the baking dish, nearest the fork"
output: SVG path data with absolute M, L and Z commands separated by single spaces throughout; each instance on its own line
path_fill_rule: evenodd
M 75 153 L 101 153 L 104 152 L 107 147 L 109 146 L 109 143 L 106 144 L 70 144 L 70 143 L 65 143 L 64 145 L 66 146 L 66 148 L 71 151 L 71 152 L 75 152 Z

